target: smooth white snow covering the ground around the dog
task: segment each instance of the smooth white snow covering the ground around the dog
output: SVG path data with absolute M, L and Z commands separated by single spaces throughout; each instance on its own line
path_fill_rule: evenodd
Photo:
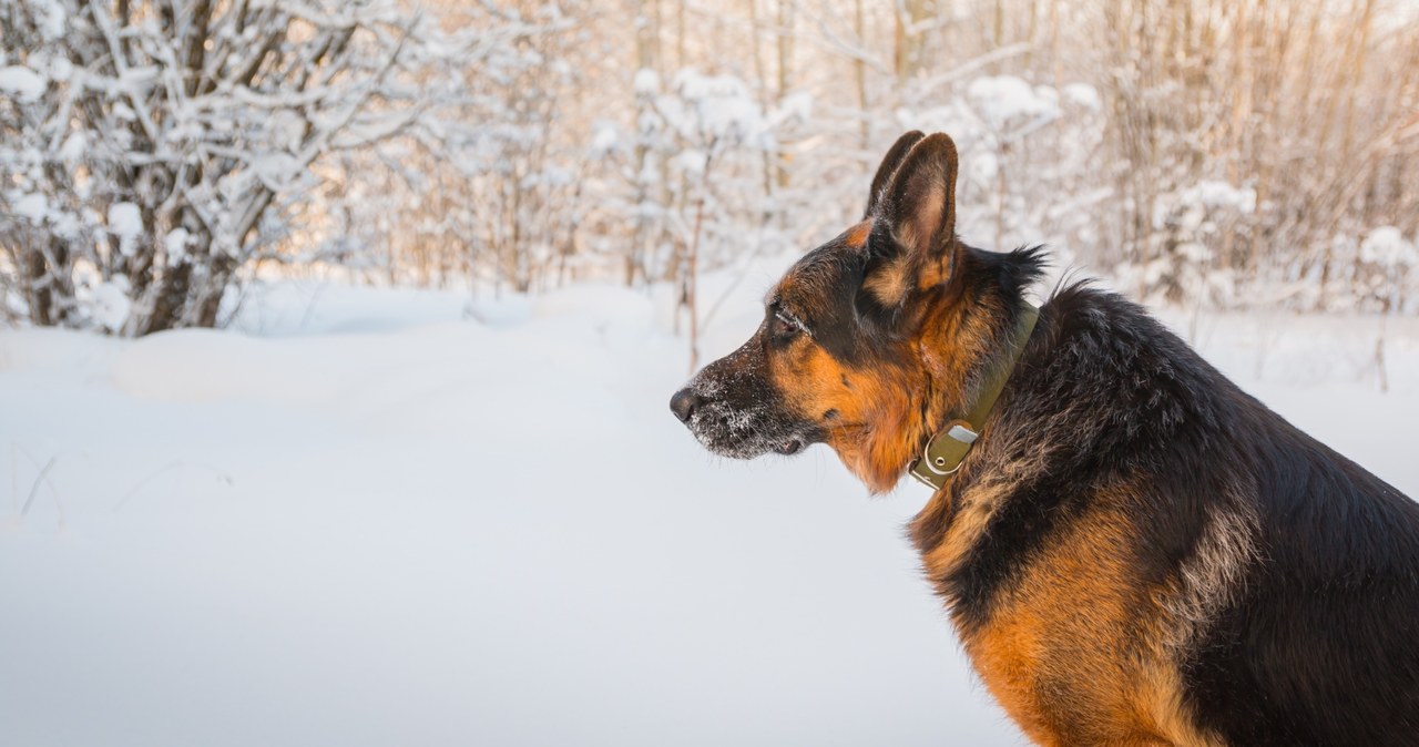
M 780 269 L 728 293 L 707 357 Z M 1419 326 L 1168 316 L 1419 495 Z M 284 283 L 234 330 L 0 332 L 0 744 L 1019 744 L 910 481 L 707 455 L 663 298 Z

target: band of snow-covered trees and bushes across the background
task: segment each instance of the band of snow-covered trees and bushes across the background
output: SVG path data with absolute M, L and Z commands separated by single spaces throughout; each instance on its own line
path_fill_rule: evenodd
M 258 262 L 695 306 L 691 265 L 857 220 L 910 128 L 956 137 L 968 240 L 1149 301 L 1378 312 L 1365 237 L 1419 234 L 1392 0 L 0 0 L 0 313 L 40 325 L 211 325 Z

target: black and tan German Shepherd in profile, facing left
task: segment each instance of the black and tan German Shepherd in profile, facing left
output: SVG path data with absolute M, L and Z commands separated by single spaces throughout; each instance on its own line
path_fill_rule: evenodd
M 948 136 L 902 136 L 674 414 L 883 492 L 993 387 L 910 536 L 1039 744 L 1419 744 L 1419 505 L 1122 298 L 1056 289 L 1029 332 L 1042 252 L 962 244 L 955 179 Z

